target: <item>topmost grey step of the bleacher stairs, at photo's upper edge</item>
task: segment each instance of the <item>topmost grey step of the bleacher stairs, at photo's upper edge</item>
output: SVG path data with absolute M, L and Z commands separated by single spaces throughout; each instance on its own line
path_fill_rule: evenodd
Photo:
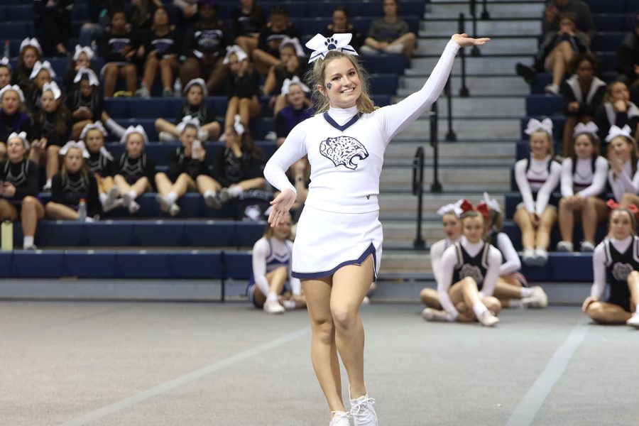
M 481 16 L 483 8 L 481 2 L 477 2 L 476 11 Z M 488 14 L 491 19 L 494 18 L 510 18 L 517 16 L 518 18 L 539 18 L 544 10 L 543 1 L 491 1 L 487 4 Z M 468 1 L 430 1 L 426 5 L 424 13 L 425 18 L 449 18 L 464 13 L 469 16 Z

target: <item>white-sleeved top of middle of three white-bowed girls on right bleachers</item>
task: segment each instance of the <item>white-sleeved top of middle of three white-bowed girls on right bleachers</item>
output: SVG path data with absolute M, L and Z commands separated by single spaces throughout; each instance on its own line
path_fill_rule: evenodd
M 575 193 L 584 198 L 596 197 L 606 188 L 607 175 L 606 158 L 598 156 L 594 161 L 591 158 L 577 158 L 577 165 L 574 165 L 572 158 L 565 158 L 562 163 L 562 197 Z

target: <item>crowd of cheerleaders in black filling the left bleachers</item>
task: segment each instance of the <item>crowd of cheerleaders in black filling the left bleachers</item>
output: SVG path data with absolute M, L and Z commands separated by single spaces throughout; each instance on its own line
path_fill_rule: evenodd
M 351 45 L 369 47 L 362 52 L 369 70 L 382 72 L 371 77 L 374 93 L 384 95 L 378 104 L 395 92 L 418 21 L 400 17 L 395 0 L 366 6 L 352 21 L 337 2 L 2 6 L 9 18 L 0 24 L 2 219 L 21 219 L 25 249 L 35 248 L 45 217 L 91 222 L 159 209 L 170 217 L 263 219 L 272 195 L 261 168 L 312 114 L 303 43 L 315 32 L 353 33 Z M 403 8 L 413 13 L 422 4 Z M 303 192 L 307 162 L 289 174 Z M 149 192 L 158 209 L 144 201 Z M 187 192 L 199 193 L 207 210 L 191 208 L 192 197 L 179 202 Z

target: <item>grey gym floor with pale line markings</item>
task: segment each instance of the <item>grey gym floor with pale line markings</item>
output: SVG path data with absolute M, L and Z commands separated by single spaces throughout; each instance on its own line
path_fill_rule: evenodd
M 419 312 L 362 308 L 380 425 L 639 425 L 639 330 L 577 307 L 495 329 Z M 0 424 L 326 426 L 309 351 L 304 311 L 0 302 Z

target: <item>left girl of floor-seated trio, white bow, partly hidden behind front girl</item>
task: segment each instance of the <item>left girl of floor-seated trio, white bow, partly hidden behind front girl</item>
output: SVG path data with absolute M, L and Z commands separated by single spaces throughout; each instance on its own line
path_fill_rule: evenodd
M 444 229 L 446 238 L 430 246 L 430 267 L 432 274 L 435 275 L 435 284 L 439 282 L 439 277 L 442 273 L 441 261 L 444 250 L 461 239 L 461 219 L 459 219 L 459 216 L 464 213 L 460 207 L 462 202 L 464 202 L 464 200 L 459 200 L 454 204 L 446 204 L 437 210 L 437 214 L 442 216 L 442 228 Z M 432 307 L 437 310 L 442 309 L 442 305 L 439 303 L 439 298 L 437 297 L 437 290 L 433 288 L 422 288 L 420 299 L 426 307 Z

